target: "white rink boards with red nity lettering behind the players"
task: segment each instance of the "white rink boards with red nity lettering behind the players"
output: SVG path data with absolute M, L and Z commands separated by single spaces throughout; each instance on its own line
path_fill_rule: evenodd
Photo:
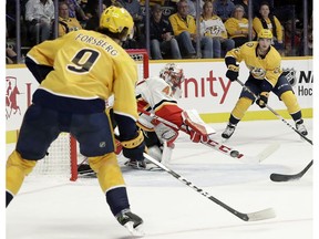
M 226 79 L 227 69 L 224 61 L 181 61 L 178 64 L 185 71 L 185 82 L 182 84 L 183 95 L 178 101 L 181 107 L 196 108 L 199 114 L 228 113 L 233 110 L 241 86 L 236 82 L 230 83 Z M 158 75 L 164 63 L 151 63 L 150 75 Z M 243 64 L 240 67 L 239 79 L 245 82 L 248 70 Z M 282 67 L 294 69 L 295 71 L 296 84 L 294 91 L 301 108 L 312 108 L 312 59 L 282 60 Z M 38 87 L 38 82 L 23 65 L 19 69 L 7 69 L 6 79 L 6 90 L 8 90 L 9 82 L 11 87 L 17 86 L 19 90 L 19 94 L 13 100 L 17 102 L 21 114 L 19 114 L 19 111 L 11 110 L 10 112 L 10 108 L 6 108 L 8 115 L 10 113 L 6 123 L 7 131 L 13 131 L 20 127 L 22 116 L 31 103 L 31 95 Z M 286 108 L 284 103 L 278 101 L 276 96 L 270 96 L 269 105 L 275 111 Z M 249 111 L 260 111 L 260 108 L 254 104 Z

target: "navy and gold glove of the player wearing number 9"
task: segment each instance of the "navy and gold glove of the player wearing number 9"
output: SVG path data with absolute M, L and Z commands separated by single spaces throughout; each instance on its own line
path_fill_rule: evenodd
M 144 160 L 143 153 L 145 150 L 144 136 L 142 131 L 137 132 L 137 136 L 131 141 L 121 142 L 123 146 L 123 155 L 126 158 L 135 160 Z

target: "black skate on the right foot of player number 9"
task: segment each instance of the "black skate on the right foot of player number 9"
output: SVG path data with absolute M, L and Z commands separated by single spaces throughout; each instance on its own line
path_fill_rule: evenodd
M 116 215 L 116 219 L 132 236 L 143 237 L 145 235 L 142 230 L 143 219 L 133 214 L 130 209 L 122 210 Z

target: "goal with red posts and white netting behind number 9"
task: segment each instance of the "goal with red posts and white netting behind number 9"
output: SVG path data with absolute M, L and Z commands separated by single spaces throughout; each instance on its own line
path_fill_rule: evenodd
M 148 54 L 145 49 L 126 50 L 130 56 L 137 64 L 140 79 L 148 77 Z M 70 180 L 78 179 L 78 165 L 82 164 L 85 157 L 79 152 L 76 141 L 68 133 L 61 133 L 51 144 L 48 155 L 37 163 L 30 176 L 48 175 L 70 177 Z

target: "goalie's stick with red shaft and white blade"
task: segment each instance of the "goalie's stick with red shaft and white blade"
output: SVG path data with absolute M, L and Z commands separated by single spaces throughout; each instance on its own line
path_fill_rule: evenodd
M 172 128 L 175 128 L 175 129 L 181 129 L 183 131 L 184 133 L 188 134 L 188 131 L 186 127 L 181 127 L 178 128 L 177 125 L 175 125 L 174 123 L 172 122 L 168 122 L 166 121 L 165 118 L 162 118 L 151 112 L 147 112 L 143 108 L 140 108 L 138 107 L 138 111 L 143 114 L 146 114 L 148 115 L 150 117 L 158 121 L 158 122 L 162 122 L 164 123 L 165 125 L 172 127 Z M 222 153 L 222 154 L 225 154 L 229 157 L 233 157 L 233 158 L 237 158 L 244 163 L 248 163 L 248 164 L 256 164 L 256 163 L 260 163 L 263 160 L 265 160 L 269 155 L 271 155 L 275 150 L 277 150 L 279 148 L 279 144 L 271 144 L 269 146 L 267 146 L 263 152 L 260 152 L 258 155 L 256 156 L 247 156 L 243 153 L 240 153 L 239 150 L 235 149 L 235 148 L 231 148 L 230 146 L 227 146 L 223 143 L 219 143 L 219 142 L 216 142 L 216 141 L 213 141 L 212 138 L 208 139 L 208 142 L 200 142 L 202 144 L 208 146 L 208 147 L 212 147 L 213 149 Z

